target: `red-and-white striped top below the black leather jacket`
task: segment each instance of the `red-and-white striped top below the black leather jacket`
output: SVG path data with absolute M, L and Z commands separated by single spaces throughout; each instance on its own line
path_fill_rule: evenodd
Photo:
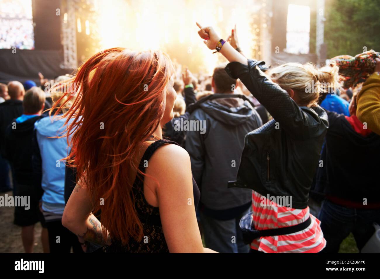
M 266 253 L 317 253 L 326 246 L 320 221 L 304 209 L 287 208 L 269 203 L 266 197 L 252 193 L 253 223 L 256 230 L 294 226 L 312 220 L 309 227 L 294 234 L 260 237 L 252 241 L 252 249 Z

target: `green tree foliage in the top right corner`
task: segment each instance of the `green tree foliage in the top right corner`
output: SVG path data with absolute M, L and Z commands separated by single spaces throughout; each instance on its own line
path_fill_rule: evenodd
M 367 50 L 380 52 L 380 0 L 326 1 L 327 56 L 355 56 Z

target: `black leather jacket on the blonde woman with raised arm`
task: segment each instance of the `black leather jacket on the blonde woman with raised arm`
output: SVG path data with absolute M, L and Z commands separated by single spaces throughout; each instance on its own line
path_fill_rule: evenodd
M 248 66 L 231 62 L 225 67 L 273 116 L 245 136 L 237 180 L 228 187 L 250 188 L 263 196 L 292 197 L 292 208 L 303 209 L 317 171 L 328 117 L 320 106 L 299 107 L 261 69 L 266 69 L 264 62 L 255 60 L 248 60 Z

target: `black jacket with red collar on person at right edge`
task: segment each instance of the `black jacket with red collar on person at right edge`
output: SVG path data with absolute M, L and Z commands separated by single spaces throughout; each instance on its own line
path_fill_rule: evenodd
M 380 136 L 357 133 L 343 114 L 328 111 L 330 127 L 318 167 L 315 190 L 329 198 L 377 207 L 380 203 L 378 161 Z M 362 124 L 361 124 L 362 125 Z M 367 205 L 363 206 L 363 199 Z

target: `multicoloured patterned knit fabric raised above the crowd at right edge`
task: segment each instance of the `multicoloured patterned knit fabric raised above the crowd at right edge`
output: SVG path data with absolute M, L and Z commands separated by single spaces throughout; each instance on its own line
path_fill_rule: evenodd
M 339 55 L 331 58 L 339 66 L 339 74 L 344 80 L 343 88 L 354 88 L 359 82 L 364 82 L 374 72 L 376 58 L 380 53 L 370 50 L 359 53 L 355 57 L 350 55 Z

